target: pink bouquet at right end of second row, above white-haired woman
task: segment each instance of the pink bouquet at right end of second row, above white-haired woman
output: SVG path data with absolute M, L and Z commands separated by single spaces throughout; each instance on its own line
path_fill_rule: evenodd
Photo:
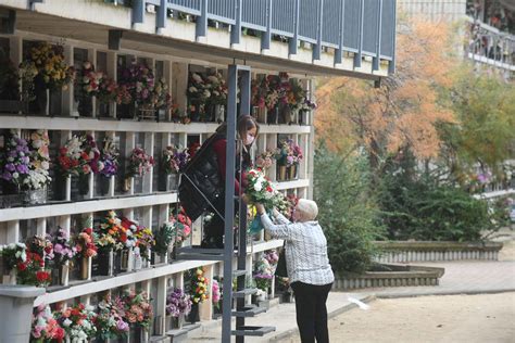
M 278 181 L 297 179 L 297 172 L 303 158 L 303 153 L 302 149 L 292 139 L 286 139 L 279 142 L 275 158 L 277 160 Z

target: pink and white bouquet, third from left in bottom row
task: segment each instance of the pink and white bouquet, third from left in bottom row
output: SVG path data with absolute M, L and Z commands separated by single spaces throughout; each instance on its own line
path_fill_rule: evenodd
M 129 332 L 129 325 L 124 319 L 123 304 L 112 302 L 111 295 L 105 295 L 98 304 L 98 315 L 95 321 L 97 336 L 102 340 L 125 338 Z

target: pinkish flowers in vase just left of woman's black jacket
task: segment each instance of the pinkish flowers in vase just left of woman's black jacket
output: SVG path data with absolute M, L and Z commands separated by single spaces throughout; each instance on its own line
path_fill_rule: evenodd
M 159 191 L 177 191 L 179 172 L 186 166 L 188 160 L 189 153 L 187 149 L 168 145 L 163 150 L 158 183 Z

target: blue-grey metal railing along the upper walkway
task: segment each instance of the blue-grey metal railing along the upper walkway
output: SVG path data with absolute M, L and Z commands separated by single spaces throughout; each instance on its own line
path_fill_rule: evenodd
M 299 41 L 313 46 L 313 60 L 323 48 L 335 49 L 335 63 L 343 52 L 389 61 L 394 71 L 397 0 L 133 0 L 133 23 L 142 23 L 148 4 L 156 7 L 156 27 L 166 25 L 168 10 L 196 16 L 197 37 L 208 33 L 208 20 L 231 26 L 231 43 L 239 43 L 241 29 L 261 33 L 262 47 L 269 48 L 274 35 L 290 41 L 296 54 Z M 175 16 L 175 15 L 174 15 Z

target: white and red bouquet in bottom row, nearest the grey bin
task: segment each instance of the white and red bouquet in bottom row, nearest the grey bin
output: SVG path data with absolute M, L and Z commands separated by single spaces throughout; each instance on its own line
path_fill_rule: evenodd
M 40 304 L 33 314 L 30 342 L 63 342 L 64 329 L 53 318 L 49 305 Z

